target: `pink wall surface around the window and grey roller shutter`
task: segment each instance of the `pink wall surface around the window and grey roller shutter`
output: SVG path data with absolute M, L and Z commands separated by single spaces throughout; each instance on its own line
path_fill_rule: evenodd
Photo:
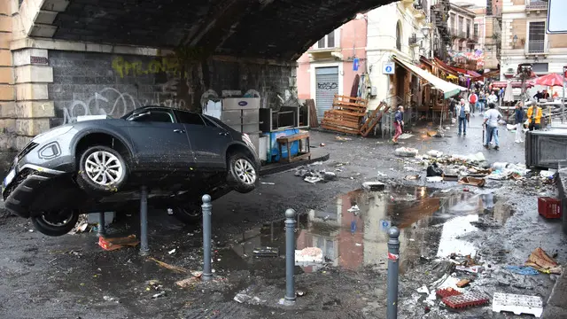
M 298 97 L 299 98 L 315 98 L 315 92 L 311 92 L 311 65 L 318 63 L 339 62 L 343 64 L 343 94 L 350 95 L 353 87 L 353 80 L 356 74 L 363 74 L 366 70 L 366 43 L 367 43 L 367 26 L 368 21 L 366 15 L 364 19 L 353 19 L 343 26 L 339 27 L 340 41 L 338 43 L 338 51 L 342 53 L 342 60 L 324 59 L 309 61 L 308 51 L 304 52 L 298 59 Z M 309 48 L 312 50 L 313 47 Z M 353 57 L 359 58 L 358 71 L 353 71 Z

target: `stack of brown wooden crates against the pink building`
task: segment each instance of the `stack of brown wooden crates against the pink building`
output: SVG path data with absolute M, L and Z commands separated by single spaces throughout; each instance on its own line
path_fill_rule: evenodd
M 332 109 L 323 115 L 321 127 L 359 135 L 367 106 L 368 100 L 365 98 L 335 95 Z

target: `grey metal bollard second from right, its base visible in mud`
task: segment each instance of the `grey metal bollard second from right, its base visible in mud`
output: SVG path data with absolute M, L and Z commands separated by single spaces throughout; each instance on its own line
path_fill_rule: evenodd
M 285 211 L 285 298 L 287 305 L 295 303 L 295 211 Z

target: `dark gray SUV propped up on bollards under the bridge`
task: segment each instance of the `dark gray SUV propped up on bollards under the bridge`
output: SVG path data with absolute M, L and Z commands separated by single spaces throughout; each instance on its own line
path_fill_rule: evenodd
M 151 206 L 198 220 L 199 198 L 246 193 L 260 161 L 246 134 L 198 113 L 144 106 L 120 119 L 80 121 L 35 136 L 2 184 L 5 207 L 49 236 L 79 214 L 126 211 L 149 188 Z

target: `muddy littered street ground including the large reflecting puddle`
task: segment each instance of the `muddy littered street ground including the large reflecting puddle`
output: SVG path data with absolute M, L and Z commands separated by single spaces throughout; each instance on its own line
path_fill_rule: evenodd
M 420 153 L 483 152 L 488 163 L 523 162 L 524 144 L 501 129 L 501 150 L 485 150 L 478 118 L 466 137 L 414 136 L 399 146 Z M 214 202 L 213 283 L 181 288 L 190 273 L 159 267 L 136 248 L 105 252 L 94 232 L 45 237 L 19 218 L 0 220 L 0 317 L 2 318 L 384 318 L 386 235 L 388 225 L 401 230 L 400 318 L 505 318 L 490 304 L 462 311 L 424 302 L 416 292 L 444 275 L 474 279 L 467 290 L 537 295 L 545 301 L 555 276 L 516 275 L 506 266 L 523 265 L 537 247 L 567 261 L 559 222 L 537 214 L 537 197 L 555 187 L 540 179 L 526 183 L 489 181 L 480 190 L 457 183 L 426 183 L 425 167 L 393 155 L 396 146 L 381 139 L 312 132 L 311 144 L 325 144 L 330 160 L 314 169 L 334 171 L 336 181 L 306 183 L 294 171 L 264 177 L 249 194 L 231 193 Z M 398 146 L 398 147 L 399 147 Z M 417 171 L 410 171 L 413 167 Z M 406 175 L 422 178 L 408 181 Z M 361 191 L 361 183 L 381 181 L 386 191 Z M 463 191 L 466 190 L 466 191 Z M 151 204 L 151 203 L 150 203 Z M 349 209 L 357 205 L 360 210 Z M 283 212 L 295 209 L 298 249 L 319 246 L 324 266 L 296 267 L 297 286 L 305 296 L 294 307 L 278 304 L 284 293 Z M 137 233 L 136 215 L 121 216 L 114 236 Z M 464 226 L 463 226 L 464 225 Z M 459 229 L 461 228 L 461 229 Z M 459 229 L 455 237 L 449 230 Z M 179 268 L 200 270 L 202 234 L 167 212 L 152 211 L 151 256 Z M 279 257 L 254 257 L 254 248 L 278 248 Z M 175 252 L 172 252 L 175 249 Z M 450 250 L 478 253 L 478 275 L 449 269 L 437 261 Z M 238 292 L 251 298 L 238 303 Z M 165 293 L 160 293 L 165 292 Z M 161 294 L 157 298 L 152 298 Z M 558 311 L 562 311 L 559 309 Z M 558 313 L 557 316 L 567 315 Z M 521 317 L 521 316 L 518 316 Z

